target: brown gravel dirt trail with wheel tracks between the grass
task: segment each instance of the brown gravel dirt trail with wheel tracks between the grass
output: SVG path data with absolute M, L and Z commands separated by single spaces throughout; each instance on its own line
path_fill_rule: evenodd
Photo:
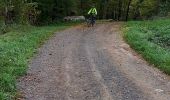
M 170 100 L 170 79 L 123 41 L 120 23 L 77 26 L 39 49 L 18 89 L 23 100 Z

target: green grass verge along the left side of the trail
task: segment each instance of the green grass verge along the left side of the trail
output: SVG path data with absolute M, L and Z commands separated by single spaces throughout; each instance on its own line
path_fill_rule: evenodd
M 0 35 L 0 100 L 11 100 L 16 95 L 16 79 L 27 71 L 28 61 L 36 49 L 56 31 L 75 23 L 43 27 L 13 26 Z

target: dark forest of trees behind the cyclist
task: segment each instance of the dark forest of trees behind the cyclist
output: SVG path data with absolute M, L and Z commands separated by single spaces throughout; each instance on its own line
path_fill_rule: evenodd
M 44 24 L 65 16 L 87 15 L 95 5 L 98 19 L 143 20 L 166 16 L 169 0 L 0 0 L 0 20 L 5 24 Z

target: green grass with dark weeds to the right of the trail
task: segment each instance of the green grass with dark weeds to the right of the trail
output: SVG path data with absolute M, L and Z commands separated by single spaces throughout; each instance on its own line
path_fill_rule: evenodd
M 170 75 L 170 19 L 130 21 L 124 33 L 132 48 Z

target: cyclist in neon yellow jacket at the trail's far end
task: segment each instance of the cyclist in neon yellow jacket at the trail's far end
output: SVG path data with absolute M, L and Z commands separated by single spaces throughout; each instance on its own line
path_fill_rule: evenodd
M 90 21 L 91 21 L 90 24 L 93 26 L 95 24 L 95 20 L 97 16 L 97 10 L 94 5 L 89 10 L 88 15 L 90 15 Z

